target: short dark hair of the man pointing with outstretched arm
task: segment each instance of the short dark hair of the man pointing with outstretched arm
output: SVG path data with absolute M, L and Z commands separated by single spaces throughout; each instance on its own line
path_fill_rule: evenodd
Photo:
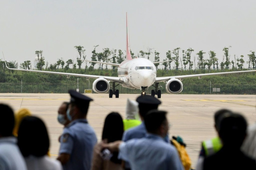
M 163 122 L 166 119 L 166 111 L 160 111 L 160 110 L 151 110 L 149 111 L 145 117 L 144 117 L 144 122 L 145 126 L 148 132 L 154 132 L 157 130 L 160 125 L 163 124 Z

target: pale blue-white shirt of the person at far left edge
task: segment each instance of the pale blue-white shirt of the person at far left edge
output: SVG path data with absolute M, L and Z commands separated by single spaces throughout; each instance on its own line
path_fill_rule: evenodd
M 16 137 L 0 138 L 0 170 L 26 170 Z

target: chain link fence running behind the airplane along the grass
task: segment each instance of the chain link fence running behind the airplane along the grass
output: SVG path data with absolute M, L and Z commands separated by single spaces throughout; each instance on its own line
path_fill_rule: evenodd
M 213 92 L 213 88 L 219 88 L 219 92 Z M 77 85 L 69 84 L 11 84 L 0 83 L 0 93 L 67 93 L 68 90 L 77 89 Z M 79 85 L 79 91 L 84 93 L 88 85 Z M 120 93 L 138 94 L 141 91 L 129 88 L 116 87 Z M 151 93 L 151 87 L 147 90 L 147 94 Z M 166 93 L 165 87 L 160 88 L 162 93 Z M 94 93 L 94 92 L 93 92 Z M 183 91 L 180 94 L 256 94 L 256 85 L 217 85 L 211 87 L 209 85 L 183 85 Z

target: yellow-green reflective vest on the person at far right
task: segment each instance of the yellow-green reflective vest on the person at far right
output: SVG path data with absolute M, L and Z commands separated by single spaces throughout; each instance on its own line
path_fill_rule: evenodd
M 222 148 L 221 139 L 219 137 L 215 137 L 213 139 L 203 141 L 203 148 L 205 149 L 206 156 L 212 155 Z

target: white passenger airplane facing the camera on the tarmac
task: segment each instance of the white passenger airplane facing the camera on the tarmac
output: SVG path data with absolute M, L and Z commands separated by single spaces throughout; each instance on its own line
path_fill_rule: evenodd
M 5 58 L 4 58 L 5 60 Z M 187 77 L 198 77 L 201 79 L 202 76 L 210 75 L 223 75 L 223 74 L 233 74 L 233 73 L 246 73 L 253 72 L 256 70 L 247 70 L 247 71 L 231 71 L 231 72 L 222 72 L 222 73 L 207 73 L 207 74 L 194 74 L 194 75 L 182 75 L 182 76 L 166 76 L 166 77 L 157 77 L 157 70 L 154 63 L 168 62 L 168 61 L 158 61 L 151 62 L 145 58 L 131 58 L 130 53 L 130 43 L 129 43 L 129 29 L 128 29 L 128 17 L 126 13 L 126 60 L 117 63 L 108 63 L 108 62 L 99 62 L 99 61 L 90 61 L 95 63 L 109 64 L 118 67 L 118 77 L 110 76 L 98 76 L 98 75 L 86 75 L 86 74 L 74 74 L 74 73 L 61 73 L 54 71 L 40 71 L 40 70 L 25 70 L 25 69 L 15 69 L 8 68 L 11 70 L 20 70 L 20 71 L 32 71 L 37 73 L 48 73 L 48 74 L 59 74 L 66 75 L 67 78 L 70 76 L 77 77 L 86 77 L 94 78 L 93 82 L 93 91 L 96 93 L 107 93 L 109 92 L 109 97 L 112 98 L 113 94 L 116 98 L 119 98 L 119 90 L 116 90 L 115 87 L 121 84 L 122 87 L 131 88 L 131 89 L 140 89 L 142 90 L 141 95 L 145 95 L 145 91 L 150 86 L 154 86 L 155 90 L 151 91 L 151 95 L 157 95 L 158 98 L 161 98 L 161 90 L 159 90 L 159 83 L 166 83 L 166 92 L 170 94 L 180 93 L 183 90 L 182 80 Z M 5 61 L 6 64 L 6 61 Z M 111 83 L 111 85 L 110 85 Z M 115 85 L 117 83 L 117 85 Z M 154 85 L 153 85 L 154 84 Z M 111 87 L 110 87 L 111 86 Z M 110 90 L 111 88 L 111 90 Z

